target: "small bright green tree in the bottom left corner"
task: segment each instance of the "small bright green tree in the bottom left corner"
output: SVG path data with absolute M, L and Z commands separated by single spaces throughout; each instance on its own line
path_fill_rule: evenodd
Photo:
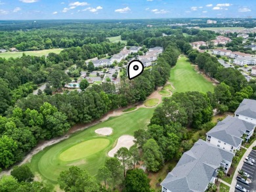
M 3 176 L 0 179 L 0 191 L 13 192 L 18 188 L 17 180 L 12 176 Z

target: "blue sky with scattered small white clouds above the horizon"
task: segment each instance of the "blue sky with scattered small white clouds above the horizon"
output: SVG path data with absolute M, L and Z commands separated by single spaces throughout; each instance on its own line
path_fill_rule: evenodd
M 256 0 L 0 0 L 0 20 L 256 18 Z

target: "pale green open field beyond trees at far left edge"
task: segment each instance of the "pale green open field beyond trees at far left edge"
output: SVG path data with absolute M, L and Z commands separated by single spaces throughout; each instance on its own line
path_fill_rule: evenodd
M 45 49 L 45 50 L 32 50 L 32 51 L 22 51 L 22 52 L 2 52 L 0 53 L 1 58 L 18 58 L 21 57 L 22 54 L 30 55 L 30 56 L 47 56 L 50 52 L 54 52 L 59 54 L 63 48 L 54 48 L 54 49 Z

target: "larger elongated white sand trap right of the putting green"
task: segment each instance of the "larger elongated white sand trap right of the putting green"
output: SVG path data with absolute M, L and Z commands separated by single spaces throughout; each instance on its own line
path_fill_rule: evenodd
M 126 147 L 129 149 L 131 146 L 133 146 L 135 138 L 133 136 L 121 136 L 117 140 L 116 147 L 108 152 L 108 156 L 114 157 L 114 154 L 120 149 L 121 147 Z

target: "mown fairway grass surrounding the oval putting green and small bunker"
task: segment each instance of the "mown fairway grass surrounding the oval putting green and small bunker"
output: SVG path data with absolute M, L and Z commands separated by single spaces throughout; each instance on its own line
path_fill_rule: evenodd
M 135 130 L 138 130 L 139 128 L 146 128 L 153 112 L 154 108 L 140 108 L 132 113 L 111 117 L 108 121 L 104 121 L 83 131 L 76 132 L 67 140 L 51 145 L 34 155 L 30 163 L 30 168 L 32 168 L 32 171 L 35 174 L 39 174 L 44 182 L 53 185 L 57 183 L 56 181 L 60 172 L 62 170 L 67 170 L 72 165 L 86 169 L 92 176 L 96 176 L 98 168 L 100 168 L 106 161 L 108 151 L 116 145 L 117 139 L 125 134 L 133 135 Z M 97 128 L 103 127 L 113 128 L 113 134 L 111 136 L 100 136 L 95 133 Z M 87 143 L 87 141 L 93 141 L 95 139 L 108 140 L 109 144 L 104 144 L 104 147 L 94 151 L 95 153 L 90 153 L 87 157 L 79 157 L 79 159 L 77 159 L 77 157 L 72 160 L 71 149 L 79 147 L 81 150 L 77 149 L 77 153 L 85 154 L 88 150 L 87 146 L 82 147 L 82 145 L 77 144 L 91 145 L 91 143 Z M 60 155 L 63 153 L 65 157 L 62 156 L 67 159 L 70 158 L 70 161 L 63 161 L 60 158 Z

